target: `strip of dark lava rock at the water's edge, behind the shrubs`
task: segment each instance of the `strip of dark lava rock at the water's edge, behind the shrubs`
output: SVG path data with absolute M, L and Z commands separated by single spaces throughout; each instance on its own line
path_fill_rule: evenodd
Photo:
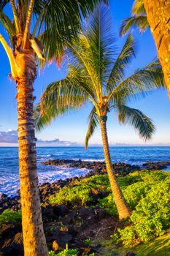
M 73 176 L 71 178 L 58 179 L 56 181 L 45 182 L 39 184 L 39 193 L 42 202 L 47 200 L 49 195 L 53 195 L 58 189 L 66 187 L 73 181 L 80 181 L 83 178 L 89 178 L 95 175 L 107 174 L 105 162 L 85 162 L 72 159 L 50 159 L 42 162 L 42 165 L 53 165 L 58 167 L 76 167 L 79 169 L 86 168 L 88 173 L 80 176 Z M 117 177 L 125 177 L 136 170 L 164 170 L 170 165 L 170 161 L 159 162 L 145 162 L 142 166 L 126 164 L 125 162 L 113 162 L 112 167 Z M 17 195 L 8 196 L 5 193 L 0 195 L 0 214 L 7 208 L 11 208 L 14 211 L 20 210 L 20 189 L 17 190 Z

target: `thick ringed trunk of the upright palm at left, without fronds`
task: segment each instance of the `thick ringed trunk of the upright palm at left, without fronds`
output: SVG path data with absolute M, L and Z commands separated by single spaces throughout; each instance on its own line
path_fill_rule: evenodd
M 22 207 L 23 245 L 25 256 L 47 256 L 42 223 L 36 170 L 36 138 L 33 118 L 33 83 L 36 77 L 34 53 L 18 53 L 16 63 L 20 77 L 18 89 L 18 141 L 20 167 L 20 200 Z

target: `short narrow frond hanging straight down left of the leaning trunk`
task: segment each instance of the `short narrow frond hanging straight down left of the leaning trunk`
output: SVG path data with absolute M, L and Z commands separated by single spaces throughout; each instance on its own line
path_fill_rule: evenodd
M 93 107 L 93 109 L 90 112 L 90 115 L 88 116 L 88 131 L 85 136 L 85 149 L 88 148 L 88 141 L 90 140 L 91 136 L 93 135 L 96 127 L 99 124 L 98 116 L 96 114 L 96 108 Z

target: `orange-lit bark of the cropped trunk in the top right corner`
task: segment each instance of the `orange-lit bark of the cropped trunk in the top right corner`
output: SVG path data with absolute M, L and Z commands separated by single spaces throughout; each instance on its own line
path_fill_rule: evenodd
M 170 0 L 144 0 L 170 97 Z

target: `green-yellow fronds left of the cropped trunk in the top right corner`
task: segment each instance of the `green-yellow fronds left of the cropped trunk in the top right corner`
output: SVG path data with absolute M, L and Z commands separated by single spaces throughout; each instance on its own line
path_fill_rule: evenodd
M 120 26 L 120 35 L 127 34 L 128 31 L 138 28 L 140 32 L 147 30 L 149 23 L 144 9 L 144 0 L 135 0 L 131 9 L 131 17 L 125 18 Z

